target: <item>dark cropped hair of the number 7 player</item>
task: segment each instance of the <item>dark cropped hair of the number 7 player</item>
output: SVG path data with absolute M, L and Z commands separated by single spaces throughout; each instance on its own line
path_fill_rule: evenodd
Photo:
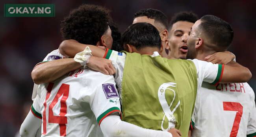
M 213 15 L 202 16 L 200 20 L 201 23 L 198 25 L 198 28 L 210 39 L 212 44 L 217 46 L 217 50 L 227 50 L 234 38 L 234 32 L 231 25 Z

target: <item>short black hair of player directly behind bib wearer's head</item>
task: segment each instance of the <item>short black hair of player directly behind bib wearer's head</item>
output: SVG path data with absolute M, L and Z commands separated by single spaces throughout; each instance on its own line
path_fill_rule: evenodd
M 140 16 L 147 16 L 148 18 L 154 19 L 155 22 L 161 23 L 165 27 L 165 29 L 167 29 L 168 27 L 167 16 L 158 9 L 141 9 L 140 11 L 134 14 L 134 19 Z

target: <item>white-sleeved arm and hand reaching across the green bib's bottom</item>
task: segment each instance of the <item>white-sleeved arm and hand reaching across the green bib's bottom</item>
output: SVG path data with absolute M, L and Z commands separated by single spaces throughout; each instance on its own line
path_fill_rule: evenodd
M 108 115 L 100 123 L 100 128 L 107 137 L 180 137 L 179 130 L 172 128 L 168 132 L 141 128 L 121 121 L 119 115 Z

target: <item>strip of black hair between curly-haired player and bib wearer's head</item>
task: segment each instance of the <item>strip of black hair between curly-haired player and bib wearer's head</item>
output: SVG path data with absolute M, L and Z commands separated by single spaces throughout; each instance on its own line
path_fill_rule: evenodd
M 113 38 L 113 44 L 111 47 L 111 50 L 115 50 L 115 51 L 122 51 L 124 50 L 124 47 L 121 45 L 121 32 L 118 29 L 118 26 L 115 22 L 111 21 L 108 23 L 112 33 L 111 36 Z

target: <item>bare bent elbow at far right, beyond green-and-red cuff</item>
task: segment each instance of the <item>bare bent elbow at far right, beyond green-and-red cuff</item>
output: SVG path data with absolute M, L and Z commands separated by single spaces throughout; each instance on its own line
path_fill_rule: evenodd
M 224 66 L 220 83 L 243 83 L 249 81 L 250 78 L 252 74 L 248 68 L 231 61 Z

